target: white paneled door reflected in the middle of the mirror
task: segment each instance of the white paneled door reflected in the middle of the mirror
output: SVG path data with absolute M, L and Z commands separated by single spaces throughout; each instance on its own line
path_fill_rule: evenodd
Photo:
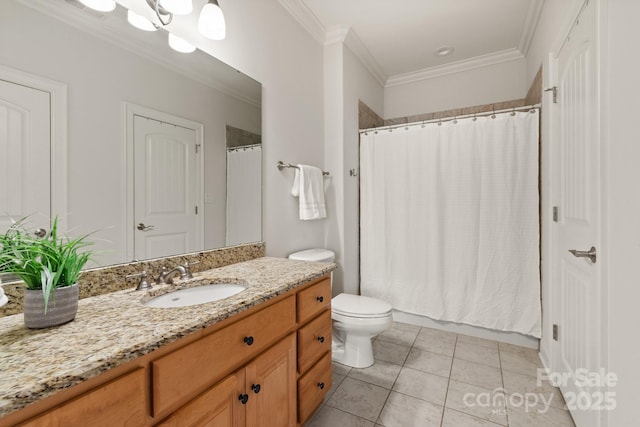
M 135 257 L 202 250 L 196 132 L 139 115 L 133 126 Z

